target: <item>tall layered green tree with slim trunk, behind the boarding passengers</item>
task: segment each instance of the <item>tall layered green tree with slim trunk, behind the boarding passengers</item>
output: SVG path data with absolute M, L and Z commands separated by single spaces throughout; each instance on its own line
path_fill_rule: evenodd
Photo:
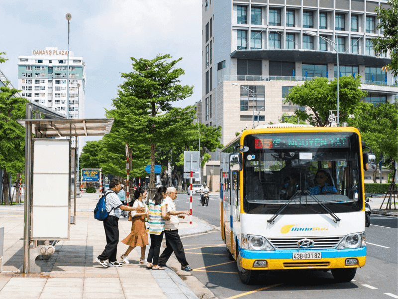
M 122 74 L 126 81 L 119 86 L 118 97 L 112 100 L 115 109 L 107 111 L 107 117 L 115 119 L 125 138 L 131 140 L 130 144 L 149 147 L 151 189 L 156 147 L 179 138 L 181 123 L 189 115 L 190 109 L 173 108 L 172 103 L 193 93 L 193 86 L 179 84 L 179 77 L 185 72 L 176 68 L 176 64 L 182 58 L 169 62 L 170 58 L 170 55 L 158 55 L 152 60 L 131 57 L 133 71 Z

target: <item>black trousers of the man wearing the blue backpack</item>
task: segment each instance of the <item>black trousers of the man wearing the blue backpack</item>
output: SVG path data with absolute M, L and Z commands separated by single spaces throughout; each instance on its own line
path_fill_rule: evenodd
M 119 243 L 119 218 L 108 216 L 103 220 L 103 228 L 105 229 L 106 246 L 103 252 L 98 256 L 101 261 L 109 260 L 116 262 L 117 243 Z

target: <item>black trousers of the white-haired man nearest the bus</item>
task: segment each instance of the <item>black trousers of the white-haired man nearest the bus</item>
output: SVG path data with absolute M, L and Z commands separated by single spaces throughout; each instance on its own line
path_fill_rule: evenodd
M 171 254 L 174 252 L 177 260 L 180 262 L 182 267 L 188 266 L 187 259 L 185 257 L 183 243 L 181 242 L 178 229 L 176 230 L 165 230 L 166 235 L 166 249 L 162 252 L 159 257 L 159 265 L 166 266 Z

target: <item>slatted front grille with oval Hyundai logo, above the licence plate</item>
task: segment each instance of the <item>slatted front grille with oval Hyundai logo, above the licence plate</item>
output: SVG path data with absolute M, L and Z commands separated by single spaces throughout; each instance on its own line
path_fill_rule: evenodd
M 334 236 L 334 237 L 307 237 L 314 241 L 314 246 L 308 249 L 333 249 L 340 243 L 344 236 Z M 276 250 L 295 250 L 298 249 L 297 242 L 304 239 L 304 237 L 295 238 L 267 238 L 272 246 Z M 305 250 L 300 248 L 300 250 Z

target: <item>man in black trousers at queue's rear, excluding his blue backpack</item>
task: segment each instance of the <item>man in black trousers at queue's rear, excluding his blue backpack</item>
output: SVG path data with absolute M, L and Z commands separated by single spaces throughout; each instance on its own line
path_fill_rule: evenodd
M 109 189 L 105 193 L 105 208 L 109 215 L 103 220 L 103 228 L 105 229 L 106 246 L 103 252 L 98 256 L 96 261 L 103 267 L 121 267 L 121 263 L 116 262 L 117 243 L 119 243 L 119 226 L 118 221 L 123 211 L 145 212 L 145 207 L 129 207 L 122 205 L 117 192 L 121 189 L 118 179 L 112 179 L 109 182 Z M 109 261 L 106 264 L 106 260 Z

